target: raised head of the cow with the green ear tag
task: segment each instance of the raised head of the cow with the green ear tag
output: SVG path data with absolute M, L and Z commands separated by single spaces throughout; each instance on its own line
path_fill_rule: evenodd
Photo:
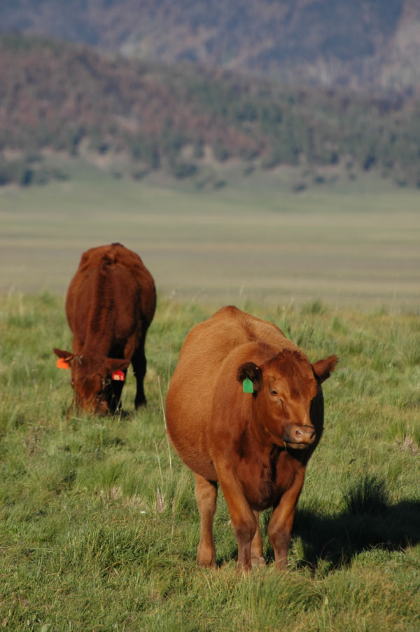
M 337 362 L 337 356 L 331 355 L 311 365 L 302 352 L 283 350 L 260 365 L 254 362 L 241 364 L 237 380 L 242 384 L 244 380 L 252 383 L 252 387 L 246 387 L 249 385 L 246 382 L 244 392 L 252 391 L 262 432 L 289 448 L 311 446 L 316 440 L 314 422 L 320 427 L 323 422 L 322 418 L 311 418 L 311 404 L 315 398 L 322 398 L 321 383 L 334 371 Z M 317 414 L 323 416 L 322 399 Z

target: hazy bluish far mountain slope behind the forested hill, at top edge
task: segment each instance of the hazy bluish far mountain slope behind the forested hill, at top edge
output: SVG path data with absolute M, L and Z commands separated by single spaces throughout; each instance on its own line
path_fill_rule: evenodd
M 0 32 L 306 86 L 420 85 L 419 0 L 2 0 Z

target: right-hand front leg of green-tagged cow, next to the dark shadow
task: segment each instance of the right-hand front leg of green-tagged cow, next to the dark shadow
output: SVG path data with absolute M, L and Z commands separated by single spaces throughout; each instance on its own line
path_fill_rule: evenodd
M 304 468 L 297 472 L 293 485 L 283 494 L 268 523 L 268 537 L 274 549 L 276 570 L 287 568 L 287 554 L 293 518 L 304 481 Z

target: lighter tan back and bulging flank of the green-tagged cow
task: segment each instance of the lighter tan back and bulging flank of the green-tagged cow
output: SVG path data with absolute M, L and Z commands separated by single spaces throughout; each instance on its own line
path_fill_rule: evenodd
M 188 467 L 197 472 L 193 464 L 200 463 L 198 473 L 209 479 L 214 476 L 214 467 L 206 428 L 219 372 L 230 354 L 236 356 L 239 348 L 258 342 L 279 350 L 295 349 L 276 325 L 232 306 L 193 327 L 183 343 L 167 394 L 167 427 Z

